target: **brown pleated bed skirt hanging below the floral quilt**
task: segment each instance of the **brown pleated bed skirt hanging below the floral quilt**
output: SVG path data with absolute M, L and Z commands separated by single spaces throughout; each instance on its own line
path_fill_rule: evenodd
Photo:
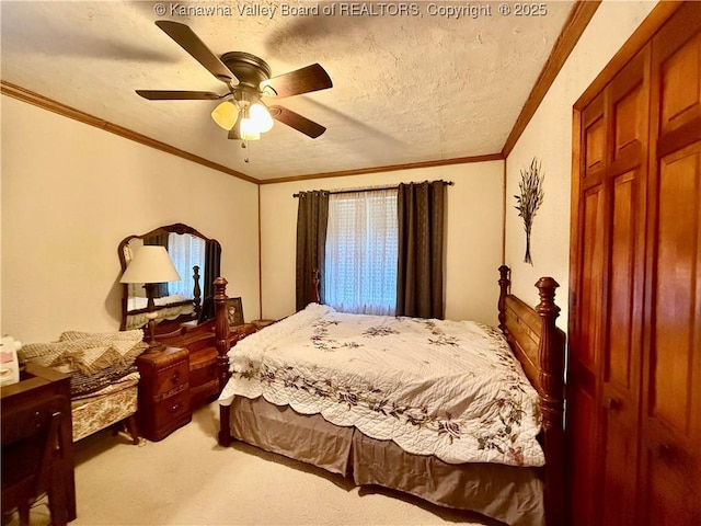
M 450 465 L 411 455 L 391 441 L 370 438 L 355 427 L 340 427 L 319 414 L 303 415 L 262 397 L 234 397 L 229 427 L 239 441 L 340 473 L 357 485 L 400 490 L 513 526 L 544 524 L 541 468 Z

